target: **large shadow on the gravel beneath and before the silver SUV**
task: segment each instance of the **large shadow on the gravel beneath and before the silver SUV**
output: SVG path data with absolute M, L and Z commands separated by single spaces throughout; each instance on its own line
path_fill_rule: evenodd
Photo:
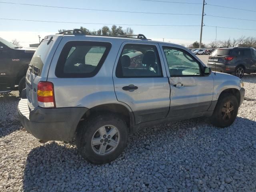
M 34 148 L 26 159 L 23 190 L 252 190 L 256 122 L 238 117 L 229 128 L 207 122 L 197 118 L 144 128 L 105 165 L 88 163 L 69 145 Z

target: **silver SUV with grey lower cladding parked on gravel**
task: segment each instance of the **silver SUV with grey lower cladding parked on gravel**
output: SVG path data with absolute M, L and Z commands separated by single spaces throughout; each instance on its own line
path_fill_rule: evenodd
M 177 54 L 178 52 L 178 54 Z M 244 99 L 236 76 L 211 73 L 183 46 L 136 38 L 46 36 L 26 74 L 20 120 L 36 138 L 71 141 L 95 164 L 116 159 L 140 127 L 200 116 L 230 126 Z

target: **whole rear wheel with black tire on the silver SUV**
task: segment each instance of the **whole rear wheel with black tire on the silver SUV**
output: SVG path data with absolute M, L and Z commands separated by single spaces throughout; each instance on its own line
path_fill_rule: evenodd
M 115 129 L 117 130 L 116 134 L 108 136 Z M 106 136 L 102 133 L 105 133 Z M 94 144 L 93 138 L 95 139 Z M 127 139 L 128 127 L 126 122 L 117 114 L 106 112 L 92 116 L 88 121 L 79 125 L 76 146 L 84 159 L 94 164 L 105 164 L 115 160 L 122 153 Z M 112 147 L 110 144 L 113 146 L 116 144 L 116 146 Z M 104 146 L 106 146 L 105 150 Z

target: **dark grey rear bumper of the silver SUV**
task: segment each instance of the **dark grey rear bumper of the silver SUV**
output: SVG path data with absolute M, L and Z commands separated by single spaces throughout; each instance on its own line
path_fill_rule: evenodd
M 28 100 L 21 99 L 18 104 L 20 122 L 34 137 L 44 140 L 70 141 L 74 138 L 76 127 L 88 108 L 28 108 Z

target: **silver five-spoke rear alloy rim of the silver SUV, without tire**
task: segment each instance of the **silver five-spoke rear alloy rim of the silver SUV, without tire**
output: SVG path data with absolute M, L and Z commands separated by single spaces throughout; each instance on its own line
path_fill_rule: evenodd
M 91 147 L 98 155 L 107 155 L 113 152 L 120 141 L 118 129 L 113 125 L 100 127 L 92 136 Z

